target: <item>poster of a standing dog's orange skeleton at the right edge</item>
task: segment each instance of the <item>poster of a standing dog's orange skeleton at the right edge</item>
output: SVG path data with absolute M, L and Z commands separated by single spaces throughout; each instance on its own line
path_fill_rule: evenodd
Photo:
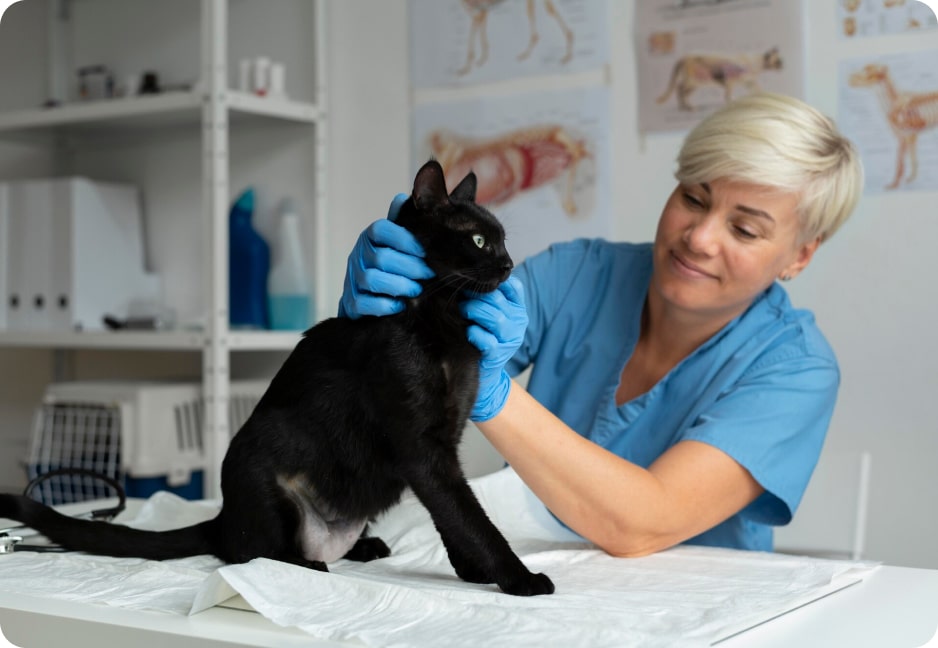
M 863 158 L 866 192 L 938 190 L 938 50 L 840 64 L 837 122 Z

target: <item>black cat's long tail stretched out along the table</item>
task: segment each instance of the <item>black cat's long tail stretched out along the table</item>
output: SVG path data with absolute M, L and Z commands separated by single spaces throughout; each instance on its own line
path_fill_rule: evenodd
M 168 560 L 216 553 L 218 518 L 172 531 L 143 531 L 69 517 L 22 495 L 0 495 L 0 518 L 16 520 L 66 549 L 101 556 Z

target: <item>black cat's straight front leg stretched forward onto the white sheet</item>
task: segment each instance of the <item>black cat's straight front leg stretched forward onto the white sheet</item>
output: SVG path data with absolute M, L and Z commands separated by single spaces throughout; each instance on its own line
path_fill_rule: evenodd
M 457 458 L 427 461 L 412 466 L 411 472 L 411 488 L 430 512 L 460 578 L 472 583 L 494 582 L 503 592 L 517 596 L 553 593 L 550 578 L 532 574 L 489 520 Z

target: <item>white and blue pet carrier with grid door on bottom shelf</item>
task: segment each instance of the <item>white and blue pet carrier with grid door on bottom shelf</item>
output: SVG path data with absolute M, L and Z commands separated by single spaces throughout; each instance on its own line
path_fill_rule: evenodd
M 234 434 L 267 388 L 267 381 L 231 383 L 229 422 Z M 169 490 L 203 496 L 204 405 L 199 383 L 81 381 L 46 389 L 29 444 L 29 479 L 81 468 L 117 480 L 128 497 Z M 46 504 L 112 497 L 100 480 L 51 477 L 35 489 Z

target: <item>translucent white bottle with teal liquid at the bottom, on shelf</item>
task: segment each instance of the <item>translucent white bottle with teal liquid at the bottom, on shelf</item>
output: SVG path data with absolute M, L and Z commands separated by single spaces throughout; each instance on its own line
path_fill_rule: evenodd
M 306 330 L 312 320 L 309 276 L 303 260 L 300 218 L 291 200 L 281 205 L 272 247 L 273 262 L 267 279 L 270 328 Z

